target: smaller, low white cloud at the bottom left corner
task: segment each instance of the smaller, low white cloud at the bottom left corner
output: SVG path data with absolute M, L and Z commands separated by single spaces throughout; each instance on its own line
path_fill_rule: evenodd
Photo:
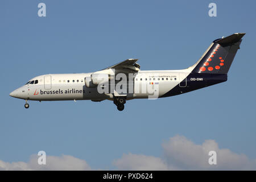
M 28 163 L 7 163 L 0 160 L 0 170 L 90 170 L 85 160 L 75 158 L 71 155 L 48 156 L 46 165 L 38 164 L 37 155 L 32 155 Z

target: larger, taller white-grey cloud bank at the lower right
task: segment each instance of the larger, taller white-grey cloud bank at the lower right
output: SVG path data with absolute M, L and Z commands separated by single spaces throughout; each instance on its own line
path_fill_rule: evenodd
M 162 144 L 163 158 L 154 156 L 123 154 L 114 161 L 118 169 L 127 170 L 239 170 L 256 169 L 255 160 L 244 154 L 236 154 L 229 149 L 220 149 L 214 140 L 205 140 L 201 145 L 177 135 Z M 209 151 L 217 152 L 217 165 L 210 165 Z

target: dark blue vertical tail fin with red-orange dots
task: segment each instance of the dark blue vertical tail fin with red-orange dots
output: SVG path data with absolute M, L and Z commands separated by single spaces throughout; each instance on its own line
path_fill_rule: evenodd
M 214 40 L 202 59 L 196 63 L 193 73 L 227 74 L 240 48 L 245 33 L 236 33 Z

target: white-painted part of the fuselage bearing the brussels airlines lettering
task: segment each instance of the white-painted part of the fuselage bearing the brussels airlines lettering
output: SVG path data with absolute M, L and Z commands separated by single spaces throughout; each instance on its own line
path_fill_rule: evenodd
M 179 71 L 139 71 L 134 78 L 133 89 L 136 92 L 127 93 L 127 100 L 133 98 L 148 98 L 152 93 L 143 91 L 143 85 L 158 86 L 158 96 L 163 96 L 169 90 L 179 85 L 191 69 Z M 10 95 L 24 100 L 61 101 L 61 100 L 113 100 L 113 93 L 98 93 L 96 88 L 85 86 L 85 77 L 92 73 L 49 74 L 32 78 L 36 84 L 26 84 L 14 90 Z M 151 85 L 152 84 L 152 85 Z

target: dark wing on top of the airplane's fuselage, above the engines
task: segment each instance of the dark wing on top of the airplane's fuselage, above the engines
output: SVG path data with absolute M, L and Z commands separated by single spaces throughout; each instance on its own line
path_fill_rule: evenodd
M 138 61 L 138 59 L 127 59 L 105 69 L 115 69 L 118 72 L 127 72 L 127 73 L 138 72 L 141 70 L 140 69 L 141 66 L 137 64 L 136 61 Z M 102 69 L 102 70 L 105 70 L 105 69 Z

